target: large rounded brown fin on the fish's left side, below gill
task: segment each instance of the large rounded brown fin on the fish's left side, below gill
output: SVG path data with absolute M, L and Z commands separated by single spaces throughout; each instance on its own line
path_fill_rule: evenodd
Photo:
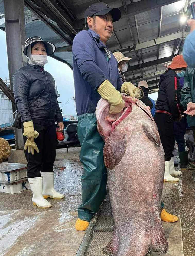
M 125 132 L 119 133 L 116 129 L 112 132 L 104 146 L 104 163 L 106 168 L 112 170 L 121 161 L 126 150 Z

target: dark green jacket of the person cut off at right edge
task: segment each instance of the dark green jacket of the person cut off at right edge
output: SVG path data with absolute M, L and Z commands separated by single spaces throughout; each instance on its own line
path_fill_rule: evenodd
M 189 102 L 195 103 L 195 69 L 187 68 L 184 75 L 184 86 L 181 90 L 181 104 L 187 109 Z M 187 123 L 189 127 L 195 126 L 195 117 L 187 115 Z

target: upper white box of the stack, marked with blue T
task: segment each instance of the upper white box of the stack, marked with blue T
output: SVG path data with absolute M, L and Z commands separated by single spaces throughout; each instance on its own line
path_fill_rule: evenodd
M 2 163 L 0 164 L 0 181 L 13 182 L 27 177 L 26 164 Z

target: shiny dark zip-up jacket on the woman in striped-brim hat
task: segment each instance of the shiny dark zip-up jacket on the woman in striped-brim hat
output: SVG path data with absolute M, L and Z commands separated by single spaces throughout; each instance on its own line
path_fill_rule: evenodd
M 41 94 L 45 86 L 44 92 Z M 63 122 L 52 75 L 38 65 L 26 65 L 13 75 L 14 99 L 22 122 L 51 125 Z M 37 100 L 34 99 L 41 94 Z

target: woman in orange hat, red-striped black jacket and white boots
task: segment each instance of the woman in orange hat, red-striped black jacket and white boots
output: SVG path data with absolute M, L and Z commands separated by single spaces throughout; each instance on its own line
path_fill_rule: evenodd
M 156 114 L 154 120 L 157 124 L 162 146 L 165 153 L 165 181 L 178 181 L 180 171 L 174 169 L 173 150 L 174 139 L 174 121 L 182 118 L 181 105 L 178 99 L 179 79 L 184 77 L 187 64 L 182 55 L 177 55 L 172 59 L 171 64 L 167 65 L 166 72 L 161 75 L 159 82 L 158 98 L 156 102 Z

